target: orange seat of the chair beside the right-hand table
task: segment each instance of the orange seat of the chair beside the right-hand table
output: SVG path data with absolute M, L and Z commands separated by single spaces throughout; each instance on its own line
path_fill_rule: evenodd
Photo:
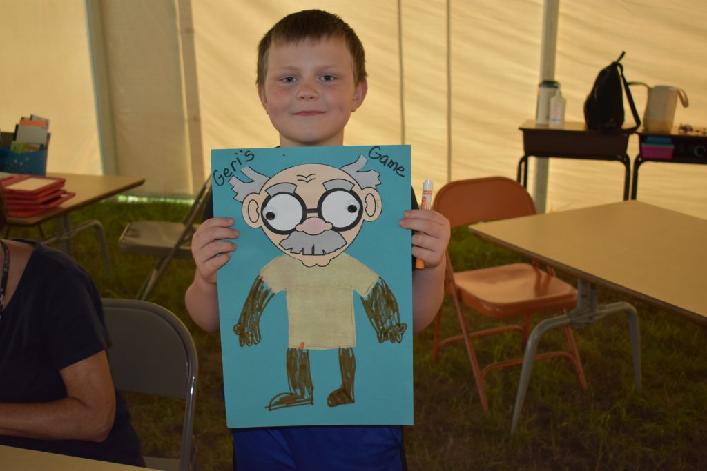
M 529 263 L 454 273 L 462 301 L 489 317 L 515 317 L 572 309 L 577 291 Z

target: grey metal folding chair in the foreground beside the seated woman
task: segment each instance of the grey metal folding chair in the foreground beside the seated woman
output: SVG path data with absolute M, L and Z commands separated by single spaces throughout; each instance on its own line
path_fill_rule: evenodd
M 199 362 L 192 335 L 182 321 L 157 304 L 137 299 L 103 299 L 110 336 L 108 361 L 119 390 L 185 400 L 179 458 L 145 457 L 158 470 L 197 469 L 192 429 Z

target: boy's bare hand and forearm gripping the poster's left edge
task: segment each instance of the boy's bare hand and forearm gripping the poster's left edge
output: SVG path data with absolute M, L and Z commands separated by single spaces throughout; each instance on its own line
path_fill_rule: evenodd
M 216 272 L 236 249 L 233 242 L 222 240 L 238 238 L 238 231 L 230 229 L 232 225 L 230 217 L 211 217 L 201 223 L 192 236 L 192 256 L 197 270 L 192 285 L 187 288 L 185 304 L 189 316 L 207 332 L 217 332 L 220 328 Z

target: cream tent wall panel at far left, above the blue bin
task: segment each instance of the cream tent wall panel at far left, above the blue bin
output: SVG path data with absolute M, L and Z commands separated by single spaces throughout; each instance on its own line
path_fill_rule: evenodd
M 50 119 L 50 172 L 102 173 L 83 1 L 0 0 L 0 129 Z

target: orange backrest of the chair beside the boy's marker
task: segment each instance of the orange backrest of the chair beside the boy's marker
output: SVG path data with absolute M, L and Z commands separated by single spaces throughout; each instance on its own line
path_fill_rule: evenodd
M 506 177 L 450 181 L 437 192 L 432 208 L 452 227 L 536 213 L 527 190 Z

